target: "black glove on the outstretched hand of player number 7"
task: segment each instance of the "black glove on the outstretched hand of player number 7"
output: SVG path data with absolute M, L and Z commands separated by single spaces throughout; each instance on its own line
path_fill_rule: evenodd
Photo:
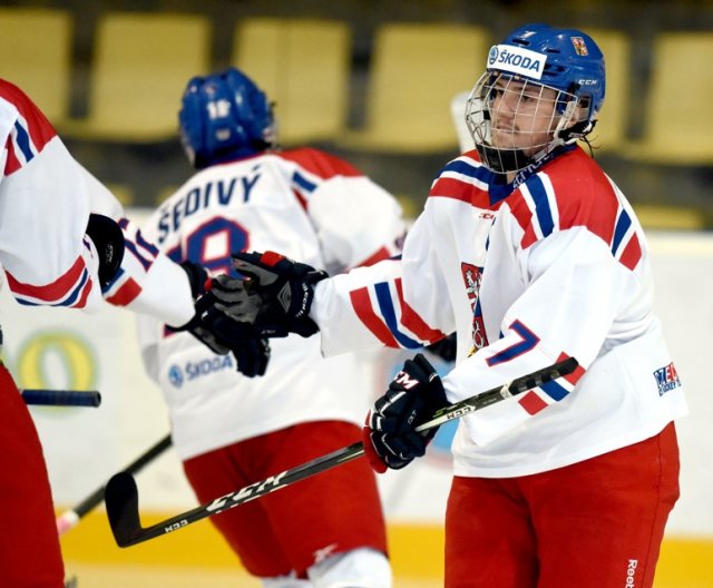
M 248 278 L 246 288 L 258 296 L 258 303 L 251 298 L 241 313 L 231 315 L 251 322 L 258 336 L 296 333 L 307 337 L 319 331 L 310 308 L 314 284 L 328 277 L 326 272 L 274 252 L 235 253 L 233 267 Z

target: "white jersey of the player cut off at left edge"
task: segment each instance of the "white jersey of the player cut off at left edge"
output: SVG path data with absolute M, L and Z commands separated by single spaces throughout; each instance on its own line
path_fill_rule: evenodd
M 104 297 L 174 326 L 191 320 L 185 272 L 123 218 L 118 200 L 71 157 L 37 106 L 1 79 L 0 145 L 0 264 L 19 303 L 92 310 Z M 104 292 L 85 235 L 90 213 L 116 219 L 126 243 Z

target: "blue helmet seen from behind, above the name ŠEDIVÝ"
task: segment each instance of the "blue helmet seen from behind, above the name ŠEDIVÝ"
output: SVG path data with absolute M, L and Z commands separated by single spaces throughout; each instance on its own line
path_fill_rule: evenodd
M 184 149 L 198 169 L 275 145 L 275 122 L 265 94 L 235 68 L 191 79 L 178 122 Z

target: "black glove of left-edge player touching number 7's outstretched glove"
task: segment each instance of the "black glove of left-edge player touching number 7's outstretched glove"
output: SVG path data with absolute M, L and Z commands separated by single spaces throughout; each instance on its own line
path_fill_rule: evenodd
M 237 371 L 253 378 L 263 375 L 270 360 L 270 345 L 257 336 L 255 329 L 240 322 L 236 314 L 248 316 L 246 306 L 255 306 L 244 286 L 244 281 L 227 275 L 209 278 L 201 265 L 183 262 L 188 275 L 196 313 L 188 323 L 173 331 L 188 331 L 214 353 L 233 353 Z

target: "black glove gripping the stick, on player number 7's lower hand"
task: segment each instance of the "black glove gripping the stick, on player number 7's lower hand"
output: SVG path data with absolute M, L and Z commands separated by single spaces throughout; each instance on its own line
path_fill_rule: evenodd
M 438 427 L 423 432 L 414 429 L 447 405 L 441 379 L 428 360 L 420 353 L 407 360 L 367 415 L 363 442 L 371 468 L 378 473 L 387 468 L 400 470 L 422 457 Z

